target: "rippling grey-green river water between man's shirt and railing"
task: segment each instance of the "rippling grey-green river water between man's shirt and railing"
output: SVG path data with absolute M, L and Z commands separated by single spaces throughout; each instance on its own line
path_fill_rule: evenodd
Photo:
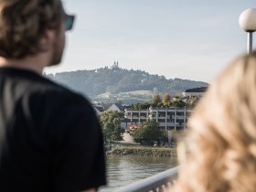
M 176 158 L 108 155 L 108 186 L 101 187 L 99 191 L 111 192 L 116 188 L 127 186 L 174 166 L 176 166 Z

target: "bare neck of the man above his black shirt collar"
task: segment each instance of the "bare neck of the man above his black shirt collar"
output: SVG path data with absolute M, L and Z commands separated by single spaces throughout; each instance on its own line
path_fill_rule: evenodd
M 29 69 L 38 74 L 43 73 L 43 69 L 48 66 L 48 63 L 48 58 L 45 57 L 43 53 L 39 53 L 35 56 L 27 56 L 24 59 L 5 59 L 0 57 L 0 68 Z

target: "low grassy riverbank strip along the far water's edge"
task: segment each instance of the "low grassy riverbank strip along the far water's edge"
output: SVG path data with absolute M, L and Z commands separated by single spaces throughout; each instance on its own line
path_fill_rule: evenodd
M 107 155 L 141 155 L 176 157 L 176 148 L 147 146 L 115 146 Z

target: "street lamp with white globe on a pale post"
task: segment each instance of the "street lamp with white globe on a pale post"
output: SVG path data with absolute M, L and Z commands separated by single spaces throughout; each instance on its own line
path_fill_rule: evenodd
M 247 53 L 252 51 L 252 33 L 256 31 L 256 8 L 244 10 L 240 15 L 240 27 L 248 33 Z

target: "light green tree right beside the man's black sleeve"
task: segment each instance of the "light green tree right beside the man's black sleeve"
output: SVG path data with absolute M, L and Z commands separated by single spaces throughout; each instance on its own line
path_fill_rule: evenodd
M 101 112 L 100 122 L 104 140 L 121 141 L 123 140 L 123 128 L 121 122 L 123 112 L 106 111 Z

